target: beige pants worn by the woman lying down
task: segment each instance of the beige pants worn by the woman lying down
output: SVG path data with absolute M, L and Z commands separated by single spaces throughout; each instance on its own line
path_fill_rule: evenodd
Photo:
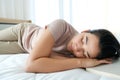
M 23 53 L 22 35 L 27 23 L 0 30 L 0 53 Z

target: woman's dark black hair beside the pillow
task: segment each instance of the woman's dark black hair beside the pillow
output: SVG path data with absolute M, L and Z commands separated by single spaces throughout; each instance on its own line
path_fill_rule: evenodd
M 100 52 L 96 59 L 113 58 L 120 56 L 120 44 L 115 36 L 106 29 L 90 30 L 89 33 L 99 38 Z

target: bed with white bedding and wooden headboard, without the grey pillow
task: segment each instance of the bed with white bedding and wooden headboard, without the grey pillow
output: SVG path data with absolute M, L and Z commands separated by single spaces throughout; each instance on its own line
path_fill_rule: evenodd
M 0 18 L 0 29 L 30 20 Z M 27 73 L 24 65 L 29 54 L 0 54 L 0 80 L 120 80 L 98 75 L 85 69 L 72 69 L 53 73 Z

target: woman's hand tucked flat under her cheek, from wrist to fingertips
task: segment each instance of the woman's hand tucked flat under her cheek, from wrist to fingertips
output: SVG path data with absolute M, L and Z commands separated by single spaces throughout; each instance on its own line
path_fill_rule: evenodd
M 110 64 L 112 63 L 112 59 L 102 59 L 102 60 L 97 60 L 97 59 L 80 59 L 78 61 L 78 65 L 83 68 L 88 68 L 88 67 L 94 67 L 100 64 Z

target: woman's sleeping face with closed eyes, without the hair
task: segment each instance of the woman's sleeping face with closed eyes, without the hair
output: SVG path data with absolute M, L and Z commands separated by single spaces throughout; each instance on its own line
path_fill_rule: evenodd
M 99 39 L 94 34 L 83 32 L 72 38 L 67 49 L 76 57 L 95 58 L 99 53 Z

